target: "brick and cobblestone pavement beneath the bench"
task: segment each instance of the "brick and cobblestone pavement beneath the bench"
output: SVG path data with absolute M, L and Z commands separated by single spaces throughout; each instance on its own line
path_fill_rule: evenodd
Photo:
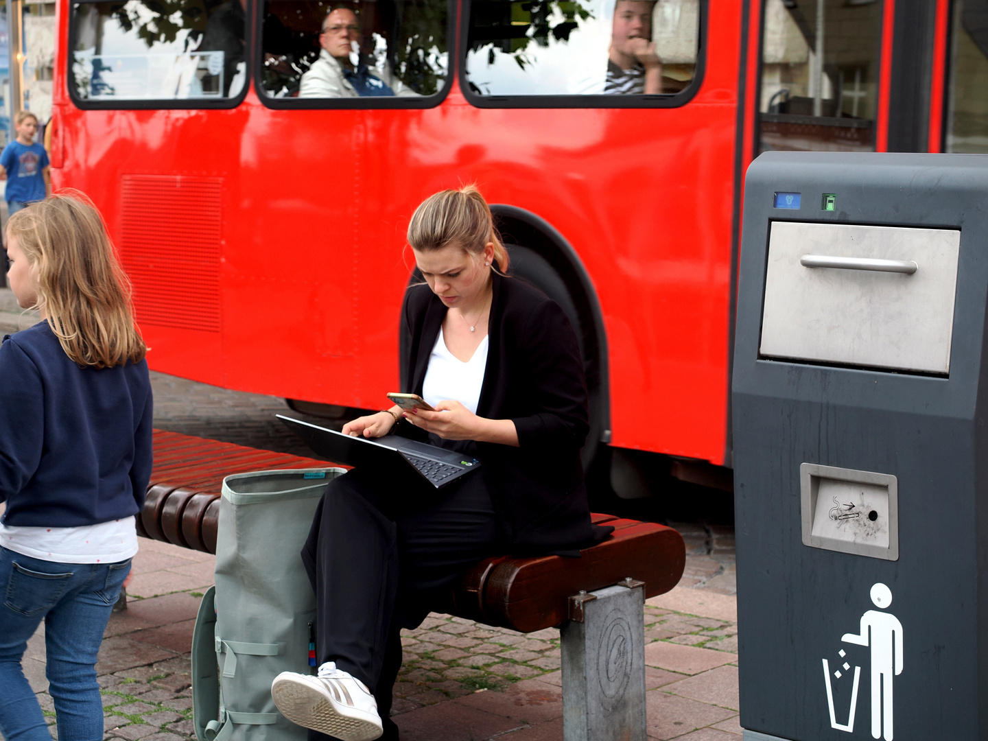
M 5 295 L 6 294 L 6 295 Z M 5 300 L 8 302 L 5 303 Z M 9 290 L 0 289 L 0 330 L 10 332 Z M 284 400 L 152 373 L 155 425 L 240 445 L 308 454 L 273 415 Z M 680 586 L 645 610 L 648 734 L 654 739 L 730 741 L 737 722 L 733 531 L 677 524 L 687 541 Z M 106 738 L 195 737 L 189 650 L 212 556 L 141 540 L 125 611 L 107 628 L 97 667 Z M 555 629 L 523 635 L 459 617 L 431 615 L 404 631 L 405 664 L 395 689 L 403 741 L 561 739 L 559 640 Z M 43 677 L 43 629 L 25 669 L 53 723 Z M 54 735 L 54 726 L 51 726 Z

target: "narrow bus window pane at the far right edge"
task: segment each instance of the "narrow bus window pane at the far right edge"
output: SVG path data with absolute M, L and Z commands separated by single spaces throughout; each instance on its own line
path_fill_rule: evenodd
M 953 5 L 947 152 L 988 154 L 988 0 Z

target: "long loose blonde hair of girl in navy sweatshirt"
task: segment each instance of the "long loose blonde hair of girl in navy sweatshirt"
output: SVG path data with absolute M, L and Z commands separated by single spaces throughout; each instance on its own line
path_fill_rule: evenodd
M 147 348 L 130 306 L 130 282 L 100 212 L 82 193 L 60 193 L 7 222 L 38 278 L 36 308 L 81 367 L 137 363 Z

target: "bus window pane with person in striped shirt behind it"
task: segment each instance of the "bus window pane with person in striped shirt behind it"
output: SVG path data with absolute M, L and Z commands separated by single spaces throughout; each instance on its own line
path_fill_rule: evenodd
M 700 0 L 472 0 L 478 96 L 660 95 L 690 86 Z

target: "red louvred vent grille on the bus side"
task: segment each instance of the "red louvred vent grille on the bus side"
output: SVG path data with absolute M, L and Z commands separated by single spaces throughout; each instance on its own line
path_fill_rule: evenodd
M 219 331 L 222 182 L 124 175 L 121 262 L 139 323 Z

